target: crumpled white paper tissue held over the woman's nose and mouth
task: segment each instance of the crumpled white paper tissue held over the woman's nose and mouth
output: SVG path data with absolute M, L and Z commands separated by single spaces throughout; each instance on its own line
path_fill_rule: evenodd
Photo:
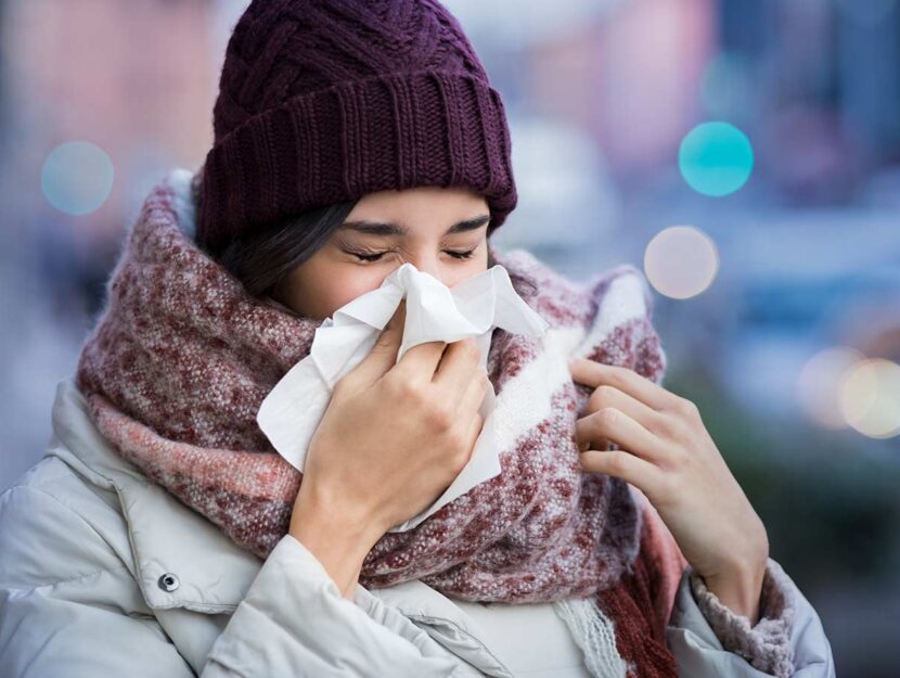
M 550 327 L 518 296 L 510 274 L 500 265 L 450 289 L 412 264 L 403 264 L 381 287 L 358 296 L 323 320 L 316 330 L 309 355 L 291 368 L 262 400 L 257 414 L 259 427 L 298 471 L 304 470 L 309 443 L 327 409 L 334 385 L 369 355 L 403 298 L 406 323 L 397 360 L 425 342 L 450 344 L 474 336 L 481 368 L 486 369 L 494 328 L 540 336 Z M 489 382 L 479 409 L 484 419 L 481 434 L 468 463 L 450 487 L 428 509 L 388 532 L 415 527 L 442 506 L 500 474 L 494 400 Z

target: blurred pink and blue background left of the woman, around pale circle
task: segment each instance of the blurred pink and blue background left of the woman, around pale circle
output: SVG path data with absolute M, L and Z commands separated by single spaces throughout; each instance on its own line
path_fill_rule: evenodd
M 74 371 L 121 235 L 170 166 L 202 163 L 218 69 L 243 7 L 211 0 L 0 2 L 0 485 L 50 435 L 56 382 Z M 85 216 L 41 193 L 59 144 L 89 140 L 113 190 Z M 10 322 L 9 319 L 15 319 Z

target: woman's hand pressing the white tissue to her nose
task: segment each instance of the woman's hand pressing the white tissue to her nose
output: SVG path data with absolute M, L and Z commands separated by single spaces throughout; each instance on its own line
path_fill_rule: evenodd
M 404 317 L 402 300 L 371 353 L 335 384 L 295 502 L 296 512 L 314 497 L 311 506 L 365 523 L 375 541 L 450 486 L 484 423 L 488 376 L 475 341 L 420 344 L 397 361 Z

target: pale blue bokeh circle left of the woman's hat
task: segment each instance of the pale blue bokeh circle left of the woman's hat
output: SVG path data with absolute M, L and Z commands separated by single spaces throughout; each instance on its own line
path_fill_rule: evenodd
M 106 201 L 114 174 L 113 161 L 103 149 L 90 141 L 68 141 L 47 156 L 40 186 L 56 209 L 80 216 Z

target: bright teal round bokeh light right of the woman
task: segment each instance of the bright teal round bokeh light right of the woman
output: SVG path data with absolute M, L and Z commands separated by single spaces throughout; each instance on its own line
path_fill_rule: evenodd
M 678 165 L 692 189 L 721 197 L 734 193 L 750 178 L 754 150 L 734 125 L 702 123 L 681 141 Z

